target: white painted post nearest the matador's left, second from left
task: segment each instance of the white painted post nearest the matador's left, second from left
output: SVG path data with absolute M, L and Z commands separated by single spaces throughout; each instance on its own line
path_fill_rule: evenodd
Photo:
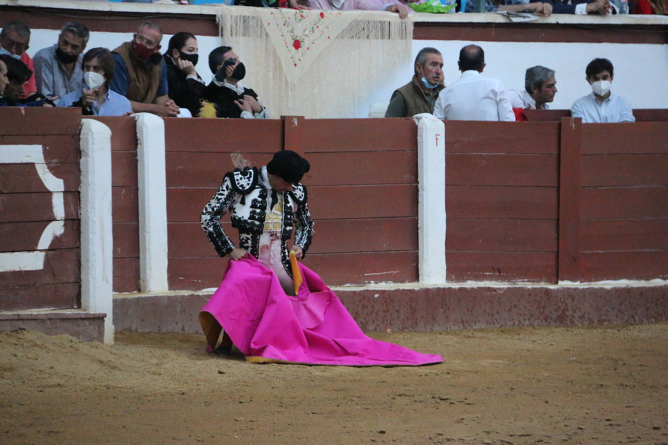
M 142 292 L 165 292 L 167 282 L 167 185 L 162 117 L 136 113 L 139 195 L 139 284 Z

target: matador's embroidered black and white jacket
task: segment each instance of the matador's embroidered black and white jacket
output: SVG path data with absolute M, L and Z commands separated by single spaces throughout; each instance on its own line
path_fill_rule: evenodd
M 256 168 L 235 169 L 225 174 L 222 184 L 202 210 L 200 223 L 206 236 L 220 256 L 234 249 L 234 243 L 220 226 L 220 217 L 230 209 L 232 227 L 239 231 L 239 247 L 258 257 L 260 236 L 265 228 L 268 188 L 262 173 Z M 285 271 L 292 276 L 286 246 L 295 228 L 295 245 L 306 254 L 313 239 L 313 221 L 307 205 L 306 187 L 293 185 L 283 193 L 283 224 L 281 231 L 281 260 Z

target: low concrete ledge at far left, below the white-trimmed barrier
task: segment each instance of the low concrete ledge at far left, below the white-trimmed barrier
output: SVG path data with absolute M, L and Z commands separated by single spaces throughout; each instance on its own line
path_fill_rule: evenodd
M 49 336 L 67 334 L 86 342 L 102 342 L 106 316 L 79 311 L 0 312 L 0 332 L 27 329 Z

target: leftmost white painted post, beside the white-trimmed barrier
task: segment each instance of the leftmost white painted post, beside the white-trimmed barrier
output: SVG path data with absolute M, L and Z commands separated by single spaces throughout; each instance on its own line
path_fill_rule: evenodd
M 114 343 L 112 296 L 112 131 L 81 120 L 81 309 L 104 312 L 104 342 Z

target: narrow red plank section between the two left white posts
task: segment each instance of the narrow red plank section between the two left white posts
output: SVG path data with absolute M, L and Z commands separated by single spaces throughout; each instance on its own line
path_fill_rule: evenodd
M 137 131 L 134 117 L 99 116 L 112 131 L 114 292 L 139 291 Z

